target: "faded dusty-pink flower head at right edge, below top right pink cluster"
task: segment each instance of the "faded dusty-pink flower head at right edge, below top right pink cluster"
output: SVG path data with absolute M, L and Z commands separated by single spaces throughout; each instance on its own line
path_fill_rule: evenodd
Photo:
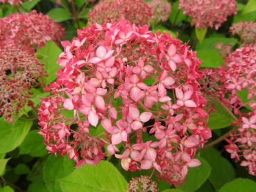
M 245 44 L 256 43 L 256 22 L 241 21 L 239 23 L 232 24 L 230 32 L 232 35 L 239 35 L 241 41 Z

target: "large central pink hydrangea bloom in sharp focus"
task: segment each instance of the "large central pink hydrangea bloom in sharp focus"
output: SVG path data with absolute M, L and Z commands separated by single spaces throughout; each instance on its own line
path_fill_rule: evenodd
M 97 164 L 106 146 L 126 171 L 153 168 L 172 184 L 200 165 L 194 155 L 211 130 L 200 61 L 187 44 L 121 20 L 78 30 L 62 45 L 62 69 L 38 113 L 49 152 L 80 166 Z

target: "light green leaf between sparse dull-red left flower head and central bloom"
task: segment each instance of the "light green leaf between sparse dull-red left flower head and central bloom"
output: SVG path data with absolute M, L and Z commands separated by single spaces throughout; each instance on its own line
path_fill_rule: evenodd
M 44 77 L 43 81 L 46 85 L 57 78 L 56 72 L 60 69 L 57 64 L 58 57 L 61 53 L 61 49 L 52 41 L 46 42 L 46 44 L 39 50 L 37 50 L 38 60 L 44 64 L 44 68 L 48 73 L 48 77 Z

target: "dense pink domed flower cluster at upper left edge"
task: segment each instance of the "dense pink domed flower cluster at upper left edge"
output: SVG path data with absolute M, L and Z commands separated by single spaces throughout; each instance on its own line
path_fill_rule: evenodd
M 0 19 L 0 46 L 44 46 L 46 41 L 60 42 L 65 29 L 47 15 L 17 13 Z

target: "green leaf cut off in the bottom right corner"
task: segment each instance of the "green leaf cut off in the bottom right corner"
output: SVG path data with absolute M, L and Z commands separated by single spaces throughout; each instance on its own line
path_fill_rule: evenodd
M 219 192 L 255 192 L 256 183 L 253 180 L 238 178 L 225 184 Z

